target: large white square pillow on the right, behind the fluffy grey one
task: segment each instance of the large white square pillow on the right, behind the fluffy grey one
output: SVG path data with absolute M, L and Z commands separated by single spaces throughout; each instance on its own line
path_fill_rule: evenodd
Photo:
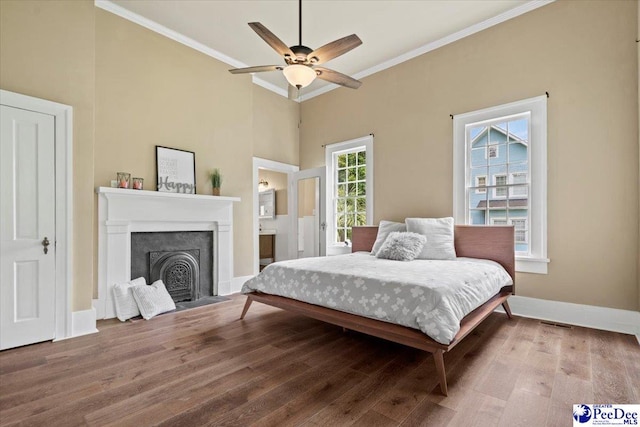
M 453 218 L 407 218 L 407 231 L 426 236 L 418 259 L 456 259 Z

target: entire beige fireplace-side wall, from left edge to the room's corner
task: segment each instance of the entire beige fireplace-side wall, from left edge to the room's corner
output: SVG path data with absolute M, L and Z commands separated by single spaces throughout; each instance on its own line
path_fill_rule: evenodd
M 74 108 L 73 310 L 97 289 L 94 188 L 127 171 L 153 189 L 155 145 L 196 153 L 200 194 L 222 170 L 222 195 L 242 198 L 234 274 L 252 273 L 252 157 L 297 164 L 299 112 L 229 68 L 90 0 L 0 1 L 0 87 Z

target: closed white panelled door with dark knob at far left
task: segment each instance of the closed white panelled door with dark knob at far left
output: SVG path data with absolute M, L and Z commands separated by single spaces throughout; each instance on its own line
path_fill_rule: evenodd
M 0 350 L 55 335 L 54 117 L 0 106 Z

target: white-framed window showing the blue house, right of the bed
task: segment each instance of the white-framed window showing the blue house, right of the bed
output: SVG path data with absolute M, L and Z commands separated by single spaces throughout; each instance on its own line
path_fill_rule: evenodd
M 546 121 L 546 96 L 454 117 L 456 222 L 513 225 L 521 272 L 546 274 L 549 262 Z

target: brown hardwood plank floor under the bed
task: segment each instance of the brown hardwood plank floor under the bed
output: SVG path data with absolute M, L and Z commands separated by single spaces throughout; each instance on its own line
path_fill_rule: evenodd
M 445 355 L 245 297 L 0 352 L 0 425 L 567 426 L 640 402 L 634 337 L 492 314 Z

